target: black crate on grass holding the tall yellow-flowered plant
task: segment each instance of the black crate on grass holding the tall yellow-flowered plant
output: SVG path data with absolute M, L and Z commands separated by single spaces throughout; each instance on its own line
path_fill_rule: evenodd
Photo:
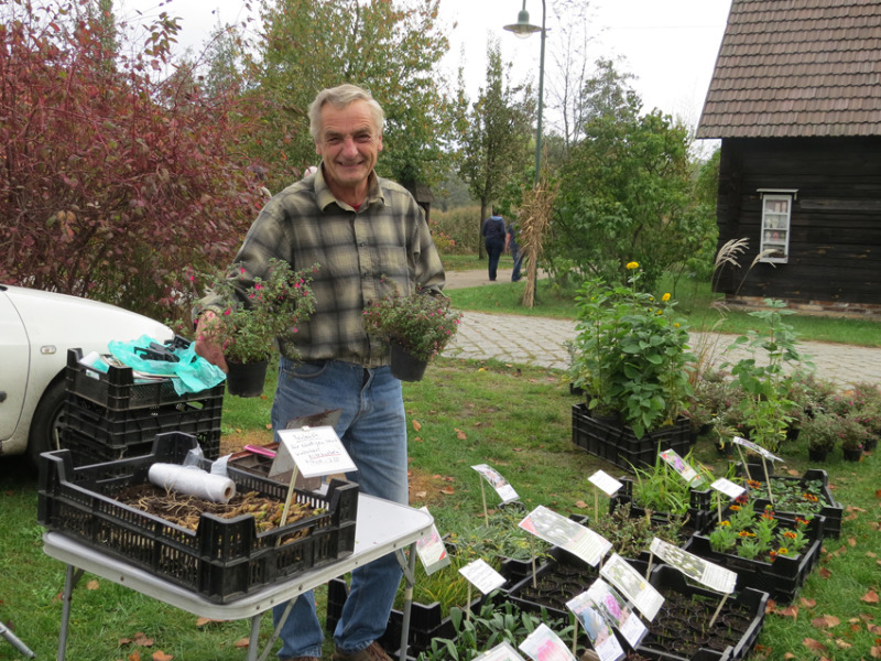
M 587 404 L 572 408 L 572 440 L 578 447 L 624 470 L 652 467 L 657 453 L 675 449 L 686 454 L 690 447 L 690 425 L 681 418 L 673 425 L 637 438 L 633 430 L 616 422 L 592 418 Z

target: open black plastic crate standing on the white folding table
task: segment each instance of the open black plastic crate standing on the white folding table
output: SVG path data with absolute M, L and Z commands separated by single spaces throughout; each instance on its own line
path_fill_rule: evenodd
M 326 495 L 297 489 L 296 502 L 326 511 L 265 532 L 258 532 L 252 514 L 203 514 L 193 532 L 113 498 L 146 483 L 152 464 L 181 464 L 195 444 L 188 434 L 162 434 L 149 455 L 78 468 L 67 449 L 45 453 L 37 521 L 217 604 L 351 554 L 359 490 L 355 483 L 333 480 Z M 203 459 L 202 467 L 209 468 L 210 462 Z M 242 494 L 257 491 L 284 501 L 287 492 L 286 485 L 235 468 L 229 477 Z

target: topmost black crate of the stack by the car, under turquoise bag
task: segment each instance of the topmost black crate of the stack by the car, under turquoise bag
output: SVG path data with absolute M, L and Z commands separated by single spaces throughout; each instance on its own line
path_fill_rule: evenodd
M 188 342 L 181 337 L 176 337 L 173 342 L 188 345 Z M 105 373 L 80 364 L 81 358 L 81 349 L 67 349 L 65 370 L 67 391 L 111 411 L 131 411 L 180 402 L 204 401 L 208 398 L 220 400 L 224 398 L 224 382 L 202 392 L 178 394 L 172 379 L 135 383 L 134 370 L 130 367 L 110 366 Z

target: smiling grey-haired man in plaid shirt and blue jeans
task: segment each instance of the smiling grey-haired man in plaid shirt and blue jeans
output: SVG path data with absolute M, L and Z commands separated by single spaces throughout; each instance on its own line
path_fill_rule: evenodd
M 318 263 L 316 306 L 296 334 L 280 337 L 272 427 L 341 409 L 337 435 L 358 467 L 347 478 L 362 494 L 407 503 L 406 418 L 401 381 L 391 375 L 388 343 L 367 336 L 370 301 L 413 291 L 439 294 L 444 268 L 425 216 L 405 188 L 377 176 L 382 107 L 355 85 L 325 89 L 309 106 L 309 130 L 322 163 L 275 195 L 260 212 L 233 263 L 240 291 L 264 278 L 270 258 L 303 269 Z M 211 296 L 197 321 L 196 351 L 226 367 L 211 325 L 222 307 Z M 293 329 L 292 329 L 293 333 Z M 286 342 L 296 343 L 294 360 Z M 278 434 L 276 438 L 278 441 Z M 391 661 L 377 640 L 385 631 L 402 571 L 389 554 L 351 573 L 351 588 L 334 631 L 333 661 Z M 276 626 L 286 604 L 273 608 Z M 281 628 L 281 661 L 319 661 L 324 640 L 308 592 L 292 603 Z

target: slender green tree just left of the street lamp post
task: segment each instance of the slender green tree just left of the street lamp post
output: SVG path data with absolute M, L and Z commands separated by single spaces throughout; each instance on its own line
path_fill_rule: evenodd
M 502 63 L 498 40 L 490 41 L 487 84 L 467 111 L 461 133 L 458 172 L 480 201 L 481 225 L 492 202 L 523 172 L 530 158 L 535 105 L 529 87 L 508 83 L 511 66 Z M 482 256 L 480 225 L 477 229 L 478 254 Z

